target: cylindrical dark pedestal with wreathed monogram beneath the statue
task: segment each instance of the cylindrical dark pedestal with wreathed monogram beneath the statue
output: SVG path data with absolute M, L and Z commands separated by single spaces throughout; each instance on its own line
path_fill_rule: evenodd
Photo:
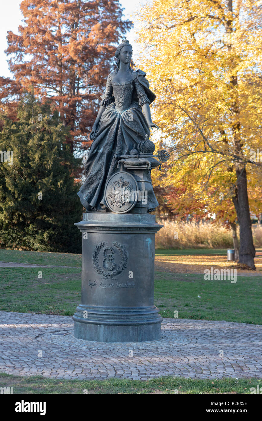
M 160 339 L 154 305 L 155 233 L 149 214 L 84 213 L 82 300 L 73 315 L 75 338 L 99 342 Z

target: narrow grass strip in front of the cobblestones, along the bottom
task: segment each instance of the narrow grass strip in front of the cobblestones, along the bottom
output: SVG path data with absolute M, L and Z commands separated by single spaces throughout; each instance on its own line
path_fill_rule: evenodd
M 141 393 L 244 393 L 250 394 L 250 388 L 260 386 L 257 378 L 223 378 L 197 380 L 183 377 L 160 377 L 152 380 L 126 380 L 111 378 L 109 380 L 63 380 L 49 379 L 41 376 L 12 376 L 0 373 L 0 386 L 13 387 L 13 393 L 49 394 L 49 393 L 90 393 L 90 394 L 141 394 Z

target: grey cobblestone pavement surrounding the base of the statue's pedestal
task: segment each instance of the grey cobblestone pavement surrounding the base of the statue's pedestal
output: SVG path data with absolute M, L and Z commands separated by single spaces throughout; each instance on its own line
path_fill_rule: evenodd
M 159 341 L 104 344 L 75 339 L 68 316 L 0 312 L 0 372 L 67 379 L 261 377 L 261 328 L 164 319 Z

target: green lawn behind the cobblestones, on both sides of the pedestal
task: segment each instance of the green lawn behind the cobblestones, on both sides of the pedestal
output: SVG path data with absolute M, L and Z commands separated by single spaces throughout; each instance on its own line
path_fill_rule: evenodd
M 9 252 L 5 254 L 6 261 L 20 258 L 24 263 L 47 265 L 81 263 L 77 260 L 78 255 L 0 250 L 3 251 Z M 38 278 L 39 271 L 42 279 Z M 2 311 L 69 316 L 81 302 L 79 265 L 72 268 L 0 268 L 0 279 Z M 237 282 L 231 284 L 230 281 L 204 280 L 203 274 L 155 272 L 155 305 L 162 317 L 173 317 L 177 310 L 178 318 L 182 319 L 262 324 L 260 282 L 261 276 L 238 276 Z

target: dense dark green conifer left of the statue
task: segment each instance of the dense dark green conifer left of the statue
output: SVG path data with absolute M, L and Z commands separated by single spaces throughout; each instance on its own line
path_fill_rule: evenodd
M 25 93 L 17 121 L 3 119 L 0 132 L 0 247 L 81 252 L 73 225 L 83 210 L 73 172 L 80 160 L 57 111 Z

